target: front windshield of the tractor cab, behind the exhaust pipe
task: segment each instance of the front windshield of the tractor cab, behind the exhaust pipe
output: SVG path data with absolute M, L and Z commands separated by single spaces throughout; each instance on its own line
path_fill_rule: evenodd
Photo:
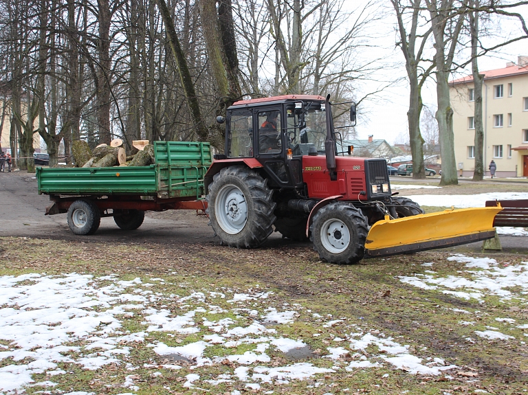
M 310 150 L 325 154 L 327 115 L 325 103 L 309 102 L 303 109 L 287 108 L 289 147 L 294 155 L 308 155 Z

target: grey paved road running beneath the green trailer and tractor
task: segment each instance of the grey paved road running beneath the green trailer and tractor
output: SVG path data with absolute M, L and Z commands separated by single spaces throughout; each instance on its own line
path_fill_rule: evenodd
M 208 219 L 196 216 L 193 211 L 147 212 L 140 229 L 130 232 L 119 229 L 113 218 L 102 218 L 95 235 L 75 236 L 69 231 L 66 214 L 44 215 L 47 205 L 50 205 L 49 196 L 36 192 L 34 174 L 22 171 L 0 173 L 0 236 L 58 240 L 89 238 L 89 241 L 97 242 L 219 243 L 219 239 L 213 236 L 211 227 L 207 225 Z M 505 252 L 528 256 L 528 237 L 500 236 L 500 242 Z M 265 246 L 280 247 L 288 243 L 289 240 L 283 240 L 281 234 L 274 233 Z M 481 245 L 481 242 L 476 242 L 449 250 L 477 252 L 481 251 Z

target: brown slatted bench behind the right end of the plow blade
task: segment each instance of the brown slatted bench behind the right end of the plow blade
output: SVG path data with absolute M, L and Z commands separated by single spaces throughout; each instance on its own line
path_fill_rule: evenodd
M 486 207 L 496 207 L 497 203 L 500 203 L 503 210 L 495 216 L 493 226 L 528 227 L 528 199 L 487 201 Z M 495 234 L 495 238 L 484 240 L 482 249 L 501 250 L 503 247 Z

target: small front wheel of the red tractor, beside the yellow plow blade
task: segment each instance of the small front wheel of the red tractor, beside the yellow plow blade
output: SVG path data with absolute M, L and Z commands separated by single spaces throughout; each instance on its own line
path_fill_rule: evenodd
M 362 260 L 365 252 L 367 219 L 361 210 L 347 203 L 330 203 L 314 216 L 310 240 L 321 259 L 337 264 Z

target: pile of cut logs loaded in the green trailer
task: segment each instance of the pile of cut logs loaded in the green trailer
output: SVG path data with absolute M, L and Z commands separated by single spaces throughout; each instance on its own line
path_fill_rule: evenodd
M 78 168 L 107 168 L 111 166 L 148 166 L 154 163 L 154 146 L 148 140 L 134 140 L 135 155 L 126 155 L 122 139 L 113 139 L 110 145 L 99 144 L 92 151 L 87 142 L 74 141 L 72 154 Z

